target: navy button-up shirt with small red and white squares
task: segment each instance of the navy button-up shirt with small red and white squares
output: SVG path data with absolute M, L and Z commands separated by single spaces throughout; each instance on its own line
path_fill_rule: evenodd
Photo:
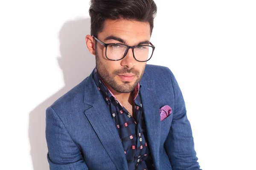
M 143 119 L 142 102 L 140 99 L 141 85 L 138 83 L 134 89 L 135 119 L 122 106 L 116 97 L 108 90 L 102 79 L 94 69 L 93 79 L 101 91 L 106 105 L 109 106 L 113 123 L 119 133 L 129 170 L 154 170 L 153 161 L 147 143 L 145 121 Z

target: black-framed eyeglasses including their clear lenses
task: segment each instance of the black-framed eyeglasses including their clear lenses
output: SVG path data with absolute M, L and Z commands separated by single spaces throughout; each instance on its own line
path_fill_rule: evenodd
M 113 60 L 113 61 L 118 61 L 120 59 L 123 59 L 128 53 L 128 50 L 131 48 L 134 59 L 136 59 L 139 62 L 146 62 L 149 59 L 151 59 L 155 49 L 154 45 L 151 42 L 150 42 L 150 45 L 129 46 L 129 45 L 119 44 L 119 43 L 106 44 L 101 40 L 99 40 L 98 38 L 96 37 L 94 38 L 96 41 L 98 41 L 100 44 L 102 44 L 106 48 L 105 55 L 107 59 Z

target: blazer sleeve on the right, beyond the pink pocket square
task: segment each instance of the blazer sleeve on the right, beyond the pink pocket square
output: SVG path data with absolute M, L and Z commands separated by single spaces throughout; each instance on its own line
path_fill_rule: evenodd
M 173 118 L 164 147 L 173 170 L 201 170 L 196 157 L 194 139 L 186 116 L 185 102 L 179 85 L 168 68 L 175 96 Z

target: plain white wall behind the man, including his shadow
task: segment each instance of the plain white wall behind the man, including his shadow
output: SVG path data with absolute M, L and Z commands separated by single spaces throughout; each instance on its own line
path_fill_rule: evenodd
M 256 170 L 256 1 L 155 0 L 148 64 L 183 92 L 204 170 Z M 0 2 L 0 169 L 49 170 L 45 109 L 95 59 L 89 0 Z

